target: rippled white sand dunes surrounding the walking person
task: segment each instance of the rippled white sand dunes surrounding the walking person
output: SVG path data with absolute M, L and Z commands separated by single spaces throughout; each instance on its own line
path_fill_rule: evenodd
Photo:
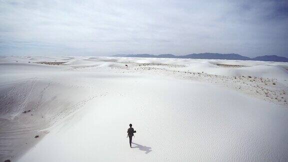
M 60 65 L 33 63 L 64 59 Z M 1 58 L 0 160 L 287 161 L 286 67 L 170 58 Z M 137 130 L 133 148 L 126 138 L 129 123 Z

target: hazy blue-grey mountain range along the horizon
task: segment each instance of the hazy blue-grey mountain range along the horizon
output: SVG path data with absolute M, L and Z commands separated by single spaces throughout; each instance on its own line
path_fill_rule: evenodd
M 155 58 L 196 58 L 196 59 L 234 59 L 234 60 L 260 60 L 260 61 L 276 61 L 288 62 L 288 58 L 277 55 L 263 55 L 254 58 L 242 56 L 235 53 L 193 53 L 187 55 L 173 55 L 173 54 L 115 54 L 115 57 L 155 57 Z

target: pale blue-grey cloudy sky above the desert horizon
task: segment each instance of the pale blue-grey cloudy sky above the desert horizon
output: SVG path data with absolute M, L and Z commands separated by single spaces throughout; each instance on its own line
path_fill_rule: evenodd
M 288 0 L 0 0 L 0 55 L 288 57 Z

